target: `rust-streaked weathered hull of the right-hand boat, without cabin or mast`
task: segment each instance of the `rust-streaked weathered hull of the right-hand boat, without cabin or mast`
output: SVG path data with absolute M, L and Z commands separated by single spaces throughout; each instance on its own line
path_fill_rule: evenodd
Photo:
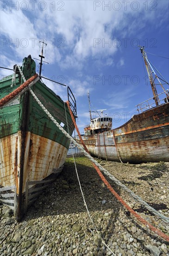
M 169 103 L 134 115 L 119 128 L 82 139 L 91 155 L 110 161 L 169 162 Z M 77 138 L 79 143 L 80 140 Z

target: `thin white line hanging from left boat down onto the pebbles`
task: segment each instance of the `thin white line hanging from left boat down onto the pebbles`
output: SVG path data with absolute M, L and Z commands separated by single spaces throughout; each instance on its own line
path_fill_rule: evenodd
M 67 114 L 66 114 L 66 107 L 65 107 L 65 102 L 64 102 L 64 108 L 65 108 L 65 115 L 66 115 L 66 122 L 67 122 L 67 127 L 68 127 L 68 119 L 67 119 Z M 69 132 L 69 128 L 68 128 L 68 132 Z M 72 148 L 71 148 L 72 149 Z M 83 198 L 83 202 L 84 202 L 84 206 L 86 207 L 86 210 L 87 210 L 87 213 L 88 213 L 88 217 L 90 219 L 90 222 L 93 224 L 93 227 L 94 229 L 96 230 L 96 232 L 98 233 L 98 235 L 100 236 L 101 238 L 101 242 L 106 246 L 106 248 L 112 253 L 112 255 L 115 256 L 115 254 L 113 253 L 113 251 L 108 247 L 108 245 L 106 245 L 106 243 L 104 242 L 104 240 L 102 239 L 99 231 L 97 230 L 95 224 L 94 224 L 94 221 L 92 220 L 92 217 L 90 215 L 90 212 L 88 210 L 88 206 L 87 206 L 87 203 L 86 203 L 86 200 L 85 200 L 85 197 L 84 197 L 84 194 L 83 194 L 83 190 L 81 189 L 81 182 L 80 182 L 80 179 L 79 179 L 79 175 L 78 175 L 78 171 L 77 171 L 77 167 L 76 167 L 76 163 L 75 163 L 75 157 L 74 157 L 74 154 L 73 154 L 73 151 L 71 152 L 72 155 L 73 155 L 73 161 L 74 161 L 74 164 L 75 164 L 75 171 L 76 171 L 76 175 L 77 175 L 77 179 L 78 179 L 78 182 L 79 182 L 79 187 L 80 187 L 80 190 L 81 190 L 81 195 L 82 195 L 82 198 Z M 90 229 L 90 232 L 94 235 L 94 232 Z

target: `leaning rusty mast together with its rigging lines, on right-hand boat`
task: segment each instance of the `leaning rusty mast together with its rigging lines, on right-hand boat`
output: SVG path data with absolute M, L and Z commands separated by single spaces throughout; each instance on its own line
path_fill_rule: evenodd
M 147 54 L 146 52 L 144 51 L 144 46 L 140 46 L 138 45 L 138 47 L 140 47 L 140 51 L 143 55 L 143 58 L 144 58 L 144 62 L 145 62 L 145 67 L 147 69 L 147 73 L 148 73 L 148 76 L 149 76 L 149 80 L 150 80 L 150 85 L 151 85 L 151 89 L 152 89 L 152 92 L 153 92 L 153 96 L 154 96 L 154 100 L 155 100 L 155 103 L 156 103 L 156 106 L 160 105 L 160 100 L 159 100 L 159 97 L 158 97 L 158 94 L 157 94 L 157 91 L 156 91 L 156 85 L 161 85 L 164 93 L 166 94 L 167 96 L 167 99 L 169 99 L 169 93 L 168 91 L 165 91 L 164 87 L 163 87 L 163 84 L 160 82 L 159 79 L 161 79 L 163 82 L 165 82 L 166 84 L 168 84 L 166 81 L 164 81 L 162 78 L 158 77 L 156 75 L 156 72 L 155 72 L 155 67 L 152 65 L 152 63 L 148 60 L 147 58 Z M 153 69 L 154 67 L 154 69 Z M 157 70 L 157 69 L 156 69 Z M 158 72 L 159 73 L 159 72 Z M 153 74 L 154 74 L 154 77 L 153 78 Z M 159 73 L 160 74 L 160 73 Z M 161 75 L 161 74 L 160 74 Z M 162 76 L 162 75 L 161 75 Z M 163 77 L 163 76 L 162 76 Z M 155 80 L 158 81 L 158 83 L 155 84 Z

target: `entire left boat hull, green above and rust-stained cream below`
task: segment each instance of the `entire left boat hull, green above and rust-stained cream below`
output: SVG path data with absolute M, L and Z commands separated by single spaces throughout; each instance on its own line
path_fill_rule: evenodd
M 25 58 L 26 80 L 35 74 L 35 62 Z M 23 80 L 13 75 L 0 81 L 0 99 L 18 88 Z M 31 89 L 63 128 L 72 134 L 74 124 L 62 99 L 40 80 Z M 65 113 L 66 111 L 66 113 Z M 67 116 L 67 121 L 66 121 Z M 0 108 L 0 201 L 14 211 L 17 221 L 27 207 L 61 172 L 69 139 L 56 127 L 29 90 Z

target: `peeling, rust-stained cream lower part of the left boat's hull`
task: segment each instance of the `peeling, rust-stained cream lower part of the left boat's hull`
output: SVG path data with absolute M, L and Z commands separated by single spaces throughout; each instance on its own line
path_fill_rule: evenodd
M 20 178 L 20 132 L 0 139 L 0 187 L 8 188 L 10 193 L 16 190 L 19 195 Z M 4 150 L 5 149 L 5 150 Z M 24 154 L 24 171 L 22 185 L 22 215 L 25 209 L 25 189 L 27 182 L 43 181 L 51 175 L 57 176 L 57 170 L 63 167 L 68 149 L 63 145 L 47 138 L 26 133 L 26 146 Z M 16 157 L 17 155 L 17 157 Z M 18 162 L 16 162 L 18 159 Z M 33 185 L 29 188 L 31 189 Z M 2 198 L 4 199 L 4 198 Z M 0 197 L 1 201 L 1 197 Z M 4 203 L 4 202 L 3 202 Z M 11 205 L 11 203 L 5 203 Z M 14 202 L 13 202 L 14 205 Z M 15 209 L 12 208 L 14 211 Z M 16 216 L 16 214 L 15 214 Z M 16 216 L 18 218 L 18 216 Z

